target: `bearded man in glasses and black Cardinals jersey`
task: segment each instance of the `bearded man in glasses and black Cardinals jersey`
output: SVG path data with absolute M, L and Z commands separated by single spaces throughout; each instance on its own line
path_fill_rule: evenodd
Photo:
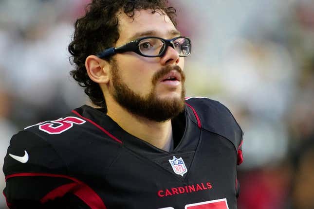
M 236 209 L 242 131 L 186 98 L 189 38 L 166 0 L 93 0 L 69 46 L 93 104 L 13 136 L 10 208 Z

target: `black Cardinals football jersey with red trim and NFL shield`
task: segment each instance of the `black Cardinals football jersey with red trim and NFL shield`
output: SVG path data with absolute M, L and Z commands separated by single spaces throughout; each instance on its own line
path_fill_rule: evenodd
M 84 105 L 14 135 L 4 159 L 10 209 L 236 209 L 242 131 L 230 111 L 186 98 L 166 152 Z

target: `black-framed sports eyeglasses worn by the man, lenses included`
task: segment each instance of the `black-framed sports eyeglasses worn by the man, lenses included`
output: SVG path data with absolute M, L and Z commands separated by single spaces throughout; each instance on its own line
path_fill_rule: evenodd
M 149 36 L 133 40 L 120 47 L 111 47 L 98 53 L 97 56 L 104 58 L 116 53 L 135 52 L 145 57 L 158 57 L 163 56 L 169 46 L 177 51 L 179 56 L 188 56 L 191 53 L 191 40 L 188 37 L 163 39 Z

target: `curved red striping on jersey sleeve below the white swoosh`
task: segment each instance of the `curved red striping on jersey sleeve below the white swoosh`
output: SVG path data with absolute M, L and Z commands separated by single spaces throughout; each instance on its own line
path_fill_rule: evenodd
M 57 178 L 67 178 L 74 183 L 66 184 L 56 188 L 55 190 L 46 194 L 41 201 L 48 201 L 50 199 L 54 199 L 59 197 L 61 194 L 65 194 L 66 192 L 72 192 L 82 201 L 84 201 L 91 209 L 107 209 L 102 199 L 98 196 L 98 194 L 92 190 L 87 184 L 84 182 L 62 174 L 43 174 L 43 173 L 18 173 L 18 174 L 11 174 L 5 176 L 5 180 L 12 178 L 12 177 L 21 177 L 21 176 L 47 176 L 47 177 L 57 177 Z

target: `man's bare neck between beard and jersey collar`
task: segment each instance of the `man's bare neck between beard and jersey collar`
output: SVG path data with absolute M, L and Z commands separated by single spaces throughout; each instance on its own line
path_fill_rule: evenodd
M 168 151 L 172 140 L 171 120 L 155 122 L 130 113 L 115 101 L 108 101 L 107 115 L 129 134 Z

